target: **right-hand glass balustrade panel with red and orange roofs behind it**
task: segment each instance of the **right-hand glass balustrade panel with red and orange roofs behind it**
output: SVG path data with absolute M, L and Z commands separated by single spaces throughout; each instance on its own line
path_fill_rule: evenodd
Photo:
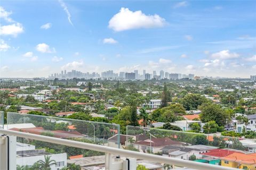
M 249 158 L 256 160 L 255 139 L 224 137 L 220 133 L 213 135 L 126 126 L 126 139 L 125 148 L 129 150 L 200 163 L 241 168 L 246 163 L 247 167 L 253 165 L 248 163 Z M 228 163 L 231 160 L 232 165 Z

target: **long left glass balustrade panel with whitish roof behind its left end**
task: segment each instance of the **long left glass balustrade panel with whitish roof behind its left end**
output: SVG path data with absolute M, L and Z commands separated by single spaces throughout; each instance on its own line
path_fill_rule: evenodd
M 119 148 L 119 125 L 7 113 L 7 129 Z

